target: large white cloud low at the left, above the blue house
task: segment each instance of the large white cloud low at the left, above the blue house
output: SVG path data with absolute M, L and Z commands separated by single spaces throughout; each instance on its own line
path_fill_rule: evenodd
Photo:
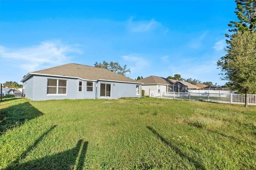
M 0 57 L 28 72 L 67 63 L 72 57 L 71 53 L 82 54 L 82 51 L 77 46 L 65 45 L 59 40 L 44 41 L 36 46 L 17 49 L 0 46 Z

